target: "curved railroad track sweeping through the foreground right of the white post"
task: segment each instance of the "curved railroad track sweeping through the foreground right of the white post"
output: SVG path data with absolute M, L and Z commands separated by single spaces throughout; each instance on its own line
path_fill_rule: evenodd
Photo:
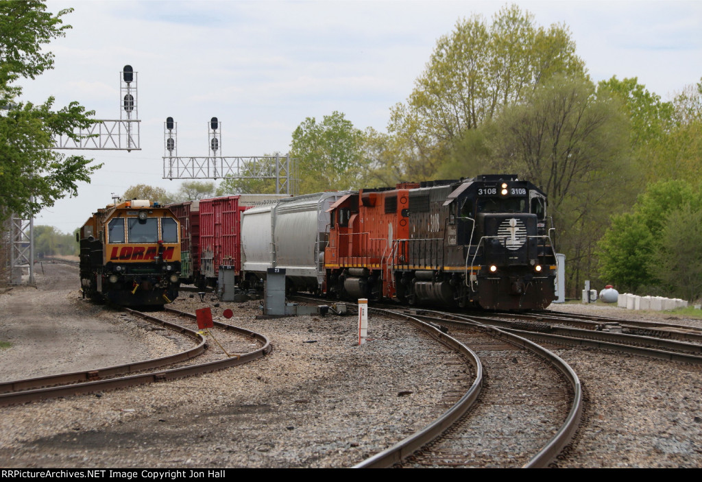
M 406 317 L 461 351 L 477 375 L 442 417 L 356 467 L 546 467 L 567 446 L 583 410 L 582 393 L 577 375 L 558 356 L 480 323 L 465 320 L 470 328 L 448 335 L 430 312 L 386 313 Z

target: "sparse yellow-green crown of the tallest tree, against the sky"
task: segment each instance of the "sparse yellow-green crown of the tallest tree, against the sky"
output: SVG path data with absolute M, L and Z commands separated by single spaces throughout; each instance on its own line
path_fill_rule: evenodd
M 404 140 L 405 166 L 435 175 L 465 131 L 522 102 L 556 74 L 583 77 L 583 61 L 564 25 L 537 27 L 531 13 L 505 6 L 488 24 L 475 15 L 437 41 L 406 104 L 392 109 L 388 132 Z M 456 145 L 458 143 L 458 145 Z M 427 171 L 431 171 L 428 173 Z

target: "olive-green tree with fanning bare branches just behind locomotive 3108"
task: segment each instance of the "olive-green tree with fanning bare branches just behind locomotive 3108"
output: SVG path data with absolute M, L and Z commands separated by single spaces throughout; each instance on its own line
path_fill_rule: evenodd
M 635 196 L 620 106 L 598 98 L 589 80 L 554 76 L 479 131 L 485 140 L 471 148 L 484 151 L 491 170 L 516 173 L 548 194 L 573 293 L 595 274 L 592 254 L 611 210 Z

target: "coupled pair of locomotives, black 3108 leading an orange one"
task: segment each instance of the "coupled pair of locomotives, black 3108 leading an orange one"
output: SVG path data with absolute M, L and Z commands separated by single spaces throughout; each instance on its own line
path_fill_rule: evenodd
M 326 290 L 338 297 L 486 309 L 555 298 L 546 195 L 516 175 L 362 189 L 329 212 Z

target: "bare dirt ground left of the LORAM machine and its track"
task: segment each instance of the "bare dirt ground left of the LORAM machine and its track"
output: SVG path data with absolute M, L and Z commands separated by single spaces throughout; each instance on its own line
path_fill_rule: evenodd
M 0 349 L 0 381 L 150 358 L 143 333 L 81 299 L 78 267 L 42 262 L 35 281 L 0 291 L 0 342 L 11 344 Z

